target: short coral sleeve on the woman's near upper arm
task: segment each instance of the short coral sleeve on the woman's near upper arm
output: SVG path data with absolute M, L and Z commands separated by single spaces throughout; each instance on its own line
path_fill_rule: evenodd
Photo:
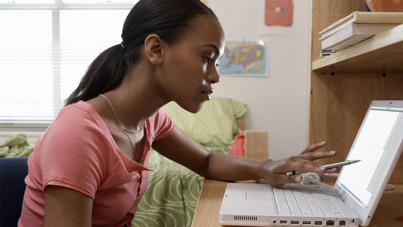
M 78 121 L 58 121 L 47 132 L 41 153 L 42 190 L 57 185 L 91 198 L 106 175 L 105 135 L 84 112 Z M 69 119 L 69 118 L 65 118 Z

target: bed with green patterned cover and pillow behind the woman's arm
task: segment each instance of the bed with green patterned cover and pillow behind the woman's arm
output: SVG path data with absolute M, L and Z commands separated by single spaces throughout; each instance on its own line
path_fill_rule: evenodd
M 228 153 L 244 130 L 246 104 L 213 97 L 193 114 L 176 103 L 164 106 L 175 125 L 214 152 Z M 245 156 L 267 158 L 267 134 L 245 131 Z M 260 146 L 262 144 L 262 146 Z M 151 150 L 149 186 L 137 208 L 132 226 L 191 226 L 204 178 Z

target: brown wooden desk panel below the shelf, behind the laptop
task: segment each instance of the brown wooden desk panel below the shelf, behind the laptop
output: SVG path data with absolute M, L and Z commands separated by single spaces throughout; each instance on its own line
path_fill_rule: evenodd
M 357 135 L 365 113 L 372 100 L 403 99 L 403 75 L 336 74 L 322 75 L 321 93 L 312 96 L 316 100 L 326 97 L 311 116 L 311 143 L 327 141 L 326 150 L 337 150 L 336 157 L 319 162 L 330 163 L 345 160 Z M 313 99 L 315 99 L 313 98 Z M 323 112 L 326 109 L 326 112 Z M 324 120 L 326 119 L 326 120 Z M 312 126 L 314 125 L 314 127 Z M 403 183 L 403 156 L 395 167 L 390 183 Z

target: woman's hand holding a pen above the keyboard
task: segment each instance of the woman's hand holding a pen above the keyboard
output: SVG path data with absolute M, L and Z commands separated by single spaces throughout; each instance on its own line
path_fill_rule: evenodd
M 315 159 L 332 157 L 336 151 L 316 151 L 326 145 L 326 141 L 313 144 L 307 147 L 300 155 L 291 156 L 281 160 L 273 161 L 268 159 L 259 167 L 259 176 L 265 179 L 267 184 L 280 186 L 286 183 L 299 183 L 302 181 L 301 175 L 287 176 L 289 171 L 307 171 L 316 173 L 335 173 L 338 167 L 326 169 L 322 165 L 314 162 Z

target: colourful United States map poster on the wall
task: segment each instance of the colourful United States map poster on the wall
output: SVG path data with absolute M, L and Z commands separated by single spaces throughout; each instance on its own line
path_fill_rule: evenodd
M 267 76 L 267 42 L 227 41 L 220 59 L 220 75 Z

